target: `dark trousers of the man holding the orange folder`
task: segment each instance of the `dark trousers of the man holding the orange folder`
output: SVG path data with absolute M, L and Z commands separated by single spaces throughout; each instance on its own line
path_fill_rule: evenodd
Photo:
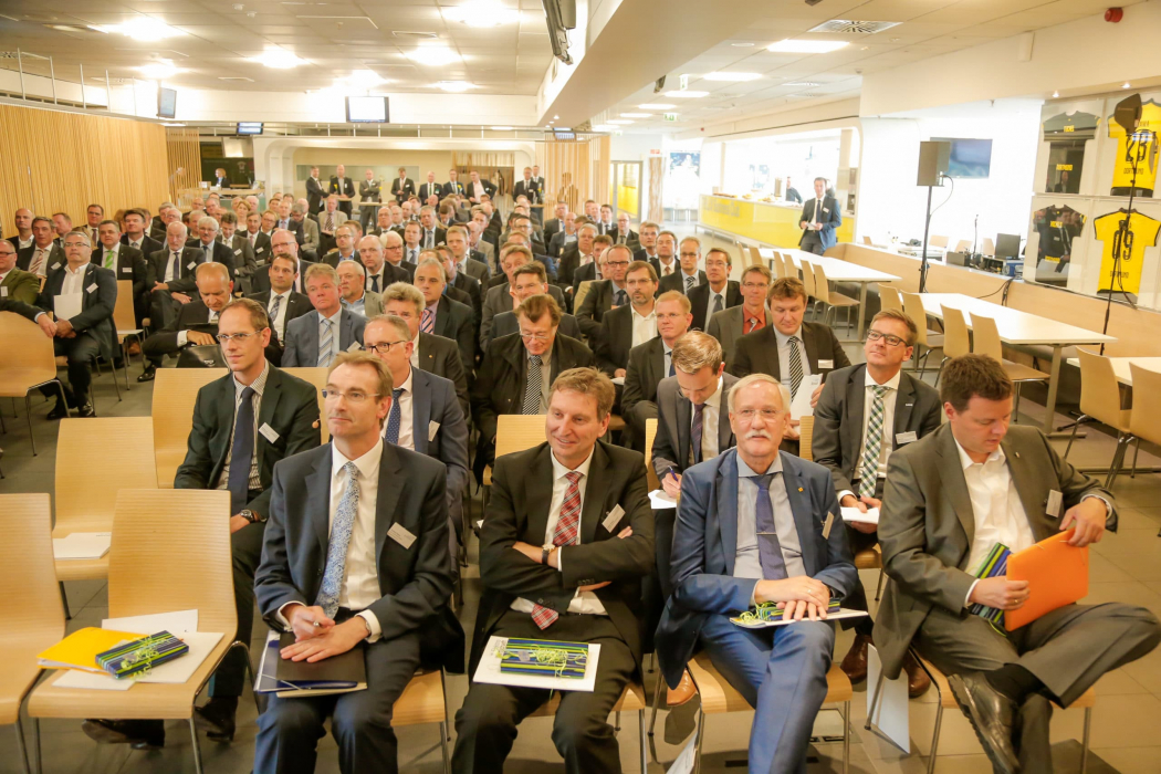
M 796 625 L 796 624 L 795 624 Z M 1061 707 L 1073 703 L 1105 672 L 1137 660 L 1161 642 L 1161 624 L 1142 607 L 1067 605 L 1007 636 L 967 610 L 932 607 L 915 637 L 920 653 L 945 674 L 987 672 L 1019 664 L 1045 685 Z M 1021 707 L 1012 740 L 1021 767 L 1052 772 L 1047 696 L 1030 696 Z

